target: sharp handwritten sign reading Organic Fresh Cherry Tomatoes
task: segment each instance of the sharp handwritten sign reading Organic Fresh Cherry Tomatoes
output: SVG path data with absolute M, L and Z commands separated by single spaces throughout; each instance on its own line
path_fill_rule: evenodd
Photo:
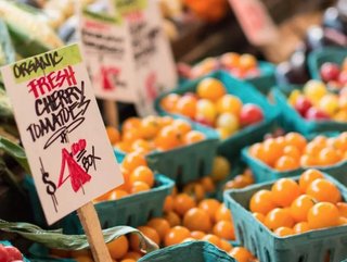
M 77 45 L 1 72 L 49 224 L 123 183 Z

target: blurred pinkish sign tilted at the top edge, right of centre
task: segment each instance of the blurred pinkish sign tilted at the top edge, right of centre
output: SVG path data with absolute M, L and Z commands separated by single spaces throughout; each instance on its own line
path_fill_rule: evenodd
M 255 46 L 273 42 L 277 27 L 259 0 L 229 0 L 247 39 Z

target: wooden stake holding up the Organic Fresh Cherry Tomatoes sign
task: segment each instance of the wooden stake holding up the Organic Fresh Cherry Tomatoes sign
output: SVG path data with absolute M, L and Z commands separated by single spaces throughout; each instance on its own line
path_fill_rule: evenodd
M 86 203 L 77 210 L 77 214 L 83 226 L 94 261 L 112 262 L 93 203 Z

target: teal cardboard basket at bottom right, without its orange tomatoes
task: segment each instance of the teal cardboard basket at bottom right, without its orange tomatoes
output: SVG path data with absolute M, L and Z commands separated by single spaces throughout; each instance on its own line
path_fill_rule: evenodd
M 333 177 L 325 175 L 347 199 L 347 189 Z M 298 179 L 298 177 L 294 177 Z M 311 230 L 299 235 L 278 237 L 248 211 L 252 196 L 260 189 L 270 189 L 272 183 L 257 184 L 244 189 L 224 192 L 224 203 L 233 214 L 236 239 L 261 262 L 340 262 L 347 257 L 347 226 Z

